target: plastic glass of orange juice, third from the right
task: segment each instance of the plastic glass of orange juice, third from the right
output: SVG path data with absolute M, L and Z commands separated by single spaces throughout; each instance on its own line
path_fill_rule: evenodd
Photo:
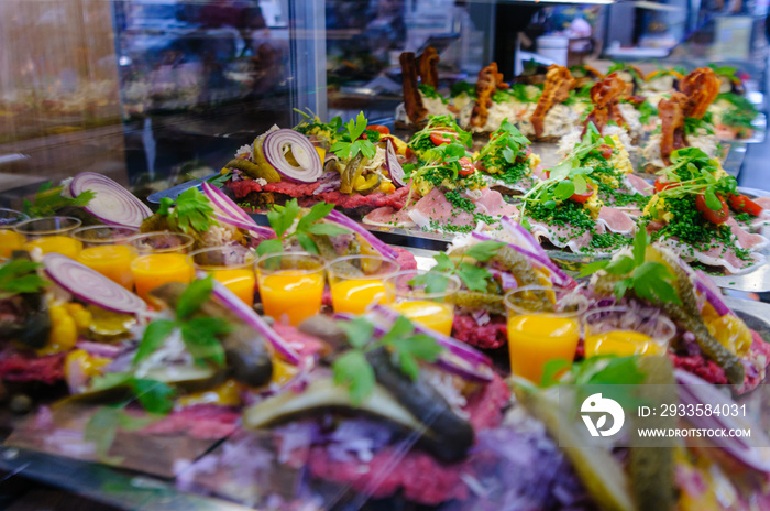
M 454 275 L 406 270 L 385 280 L 385 293 L 392 309 L 449 336 L 454 320 L 452 296 L 460 291 L 460 285 Z

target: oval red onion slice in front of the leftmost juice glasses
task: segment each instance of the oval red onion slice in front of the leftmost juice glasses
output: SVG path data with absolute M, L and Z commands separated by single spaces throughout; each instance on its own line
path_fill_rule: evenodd
M 101 273 L 61 253 L 43 257 L 45 273 L 76 298 L 113 313 L 136 315 L 147 309 L 142 298 Z

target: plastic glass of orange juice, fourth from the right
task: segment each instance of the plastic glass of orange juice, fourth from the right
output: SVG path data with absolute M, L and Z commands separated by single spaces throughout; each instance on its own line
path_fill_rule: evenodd
M 329 287 L 336 313 L 363 314 L 385 301 L 385 279 L 400 267 L 380 256 L 345 256 L 329 263 Z

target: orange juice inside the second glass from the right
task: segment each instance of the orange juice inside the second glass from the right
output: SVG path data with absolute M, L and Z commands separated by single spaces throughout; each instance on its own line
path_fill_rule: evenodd
M 508 318 L 510 371 L 534 383 L 540 383 L 546 362 L 572 362 L 580 339 L 580 325 L 574 317 L 553 314 L 522 314 Z

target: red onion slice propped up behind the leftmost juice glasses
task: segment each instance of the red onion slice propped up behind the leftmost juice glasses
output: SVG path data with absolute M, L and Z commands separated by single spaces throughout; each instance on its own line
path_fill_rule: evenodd
M 91 191 L 96 197 L 84 209 L 108 226 L 141 227 L 153 211 L 131 192 L 96 172 L 81 172 L 69 184 L 69 193 L 77 197 Z

